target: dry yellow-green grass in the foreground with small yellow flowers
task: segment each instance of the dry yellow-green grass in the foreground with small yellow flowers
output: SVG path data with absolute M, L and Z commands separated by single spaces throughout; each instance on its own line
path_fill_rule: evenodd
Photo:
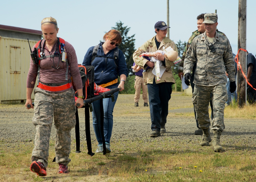
M 72 149 L 69 164 L 70 174 L 57 174 L 58 164 L 49 162 L 49 178 L 37 177 L 29 170 L 33 142 L 28 146 L 18 145 L 14 151 L 1 150 L 1 181 L 52 181 L 50 177 L 61 177 L 61 181 L 83 181 L 88 176 L 96 176 L 105 181 L 255 181 L 256 155 L 254 150 L 226 150 L 215 153 L 212 146 L 200 147 L 187 143 L 177 147 L 176 140 L 131 141 L 130 153 L 95 154 L 74 153 Z M 52 141 L 51 141 L 52 142 Z M 141 148 L 136 150 L 140 143 Z M 2 146 L 3 143 L 1 143 Z M 84 143 L 85 144 L 85 143 Z M 111 150 L 117 151 L 119 143 L 113 143 Z M 168 146 L 168 148 L 167 148 Z M 223 146 L 225 147 L 225 146 Z M 200 150 L 199 150 L 200 149 Z M 54 147 L 50 148 L 49 161 L 54 158 Z M 196 166 L 196 167 L 195 167 Z M 15 177 L 16 176 L 16 177 Z M 19 176 L 19 177 L 17 177 Z

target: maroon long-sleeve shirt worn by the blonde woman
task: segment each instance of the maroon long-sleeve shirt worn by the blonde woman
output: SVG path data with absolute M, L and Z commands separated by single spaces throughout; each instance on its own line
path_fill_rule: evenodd
M 48 50 L 46 45 L 44 45 L 44 48 L 42 50 L 43 42 L 44 40 L 42 40 L 41 42 L 40 51 L 44 52 L 45 56 L 52 55 L 54 54 L 55 51 L 59 52 L 59 49 L 57 49 L 58 41 L 52 47 L 51 51 Z M 33 46 L 32 50 L 34 50 L 34 48 L 35 48 L 35 45 Z M 82 89 L 82 80 L 81 80 L 81 75 L 78 68 L 76 51 L 74 50 L 73 46 L 67 41 L 65 41 L 65 49 L 66 49 L 66 54 L 68 57 L 68 64 L 69 64 L 68 79 L 70 79 L 71 77 L 70 74 L 71 74 L 73 78 L 74 86 L 76 87 L 76 89 Z M 42 83 L 66 82 L 67 65 L 66 65 L 66 62 L 61 61 L 61 58 L 62 56 L 60 57 L 56 56 L 55 58 L 45 58 L 40 60 L 40 64 L 39 64 L 40 65 L 40 74 L 39 74 L 40 82 Z M 55 68 L 57 67 L 60 67 L 60 68 L 54 69 L 52 66 L 55 66 Z M 29 67 L 28 76 L 27 76 L 27 88 L 34 88 L 35 84 L 37 84 L 36 83 L 37 71 L 38 71 L 38 66 L 34 65 L 32 59 L 30 58 L 30 67 Z M 58 92 L 64 92 L 66 90 L 62 90 Z

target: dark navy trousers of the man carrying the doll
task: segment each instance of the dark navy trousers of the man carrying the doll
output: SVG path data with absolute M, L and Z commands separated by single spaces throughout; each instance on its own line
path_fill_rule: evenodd
M 165 126 L 168 115 L 168 102 L 172 94 L 172 83 L 162 82 L 147 84 L 148 98 L 150 106 L 151 129 L 160 131 Z

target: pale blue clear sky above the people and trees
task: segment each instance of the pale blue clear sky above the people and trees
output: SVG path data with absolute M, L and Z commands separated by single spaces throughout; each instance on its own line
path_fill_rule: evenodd
M 197 1 L 196 1 L 197 2 Z M 131 27 L 129 36 L 135 34 L 135 48 L 155 35 L 157 21 L 166 21 L 166 0 L 129 1 L 3 1 L 1 2 L 0 24 L 14 27 L 41 30 L 41 20 L 52 16 L 58 22 L 61 37 L 71 43 L 76 50 L 78 63 L 89 47 L 102 40 L 105 32 L 122 21 Z M 247 0 L 247 50 L 254 56 L 255 48 L 255 0 Z M 237 53 L 238 42 L 238 0 L 194 1 L 169 0 L 170 39 L 188 41 L 191 33 L 197 30 L 196 17 L 201 13 L 215 13 L 218 26 Z M 29 53 L 28 53 L 29 54 Z

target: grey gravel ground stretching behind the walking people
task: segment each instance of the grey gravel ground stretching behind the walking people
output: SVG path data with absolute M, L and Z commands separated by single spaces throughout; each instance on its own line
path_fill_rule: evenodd
M 114 109 L 114 126 L 111 142 L 125 142 L 127 139 L 143 140 L 151 142 L 148 137 L 151 132 L 151 121 L 149 107 L 143 107 L 143 100 L 139 101 L 139 107 L 134 107 L 133 95 L 119 94 Z M 169 115 L 166 123 L 166 134 L 158 137 L 157 140 L 165 140 L 172 137 L 175 140 L 190 141 L 198 143 L 201 135 L 194 135 L 196 122 L 194 117 L 187 116 L 193 112 L 191 96 L 183 96 L 180 93 L 173 93 L 169 101 Z M 0 140 L 4 141 L 6 147 L 11 143 L 33 142 L 35 137 L 35 126 L 31 120 L 33 110 L 27 110 L 24 105 L 0 105 Z M 79 109 L 80 139 L 85 140 L 84 108 Z M 256 149 L 256 122 L 252 119 L 225 118 L 226 129 L 222 133 L 221 143 L 223 149 L 236 148 L 239 144 L 243 149 Z M 96 138 L 92 128 L 92 117 L 90 113 L 90 130 L 92 142 Z M 71 131 L 72 141 L 75 140 L 74 129 Z M 55 128 L 52 127 L 51 139 L 55 139 Z M 211 132 L 212 134 L 212 132 Z M 0 145 L 1 146 L 1 145 Z M 1 146 L 5 147 L 5 146 Z M 83 147 L 83 146 L 82 146 Z M 84 146 L 86 147 L 86 146 Z M 93 150 L 96 146 L 93 146 Z M 242 149 L 242 150 L 243 150 Z M 84 150 L 87 150 L 84 148 Z M 136 151 L 136 149 L 134 149 Z M 114 152 L 114 151 L 113 151 Z

